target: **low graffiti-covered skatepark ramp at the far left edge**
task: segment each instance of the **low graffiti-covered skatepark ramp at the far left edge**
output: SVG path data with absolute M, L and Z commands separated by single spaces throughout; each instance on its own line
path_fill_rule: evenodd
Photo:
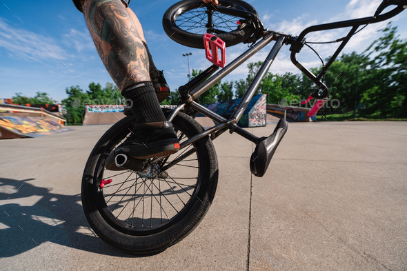
M 0 112 L 0 139 L 41 137 L 72 130 L 63 126 L 66 119 L 42 108 L 1 103 Z M 38 117 L 34 117 L 36 114 Z

